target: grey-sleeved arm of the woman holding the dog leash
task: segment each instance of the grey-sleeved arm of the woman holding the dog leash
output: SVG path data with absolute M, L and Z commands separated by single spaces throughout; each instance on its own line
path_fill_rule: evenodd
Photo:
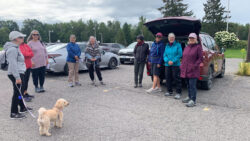
M 17 56 L 18 51 L 16 48 L 10 48 L 6 52 L 7 61 L 9 63 L 8 65 L 8 71 L 16 78 L 16 80 L 20 80 L 20 74 L 18 72 L 18 66 L 17 66 Z

